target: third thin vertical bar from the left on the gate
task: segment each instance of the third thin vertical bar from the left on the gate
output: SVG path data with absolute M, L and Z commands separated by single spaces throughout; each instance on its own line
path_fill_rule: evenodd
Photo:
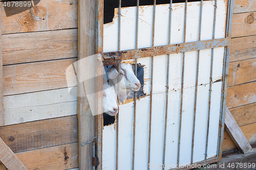
M 155 39 L 155 19 L 156 19 L 156 0 L 154 0 L 153 6 L 153 30 L 152 30 L 152 46 L 154 46 Z M 154 66 L 154 56 L 151 57 L 151 87 L 150 87 L 150 125 L 148 131 L 148 160 L 147 163 L 150 163 L 150 151 L 151 151 L 151 119 L 152 119 L 152 91 L 153 91 L 153 66 Z M 147 167 L 150 170 L 150 166 Z

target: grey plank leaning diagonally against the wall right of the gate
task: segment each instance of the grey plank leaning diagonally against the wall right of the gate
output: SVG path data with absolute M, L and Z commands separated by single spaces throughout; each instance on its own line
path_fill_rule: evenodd
M 245 138 L 243 132 L 239 128 L 236 120 L 234 120 L 232 114 L 226 107 L 226 113 L 225 113 L 225 129 L 227 133 L 229 134 L 230 138 L 236 144 L 237 148 L 242 153 L 249 153 L 252 152 L 252 148 L 248 140 Z

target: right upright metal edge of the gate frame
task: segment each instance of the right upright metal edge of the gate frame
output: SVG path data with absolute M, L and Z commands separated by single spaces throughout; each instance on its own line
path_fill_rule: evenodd
M 226 22 L 226 37 L 231 40 L 231 30 L 232 30 L 232 16 L 233 16 L 233 0 L 228 0 L 228 9 L 227 9 L 227 22 Z M 219 137 L 219 148 L 217 152 L 217 157 L 222 157 L 222 145 L 223 145 L 223 134 L 224 134 L 224 119 L 225 119 L 225 108 L 226 108 L 226 95 L 227 95 L 227 78 L 228 78 L 228 66 L 229 66 L 229 52 L 230 52 L 230 43 L 225 48 L 225 60 L 223 61 L 223 92 L 222 92 L 222 110 L 220 117 L 220 137 Z

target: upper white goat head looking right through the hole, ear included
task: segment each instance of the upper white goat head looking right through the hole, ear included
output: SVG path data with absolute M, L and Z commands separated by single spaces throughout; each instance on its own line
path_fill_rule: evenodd
M 119 72 L 119 98 L 127 99 L 132 91 L 138 91 L 140 89 L 140 81 L 137 79 L 134 73 L 134 64 L 120 64 Z M 108 76 L 112 80 L 117 88 L 118 82 L 118 68 L 117 65 L 113 65 L 108 69 Z

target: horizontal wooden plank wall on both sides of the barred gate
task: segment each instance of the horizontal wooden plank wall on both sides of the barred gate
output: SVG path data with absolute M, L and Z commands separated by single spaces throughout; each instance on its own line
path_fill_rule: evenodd
M 0 137 L 29 169 L 77 169 L 77 98 L 65 69 L 77 60 L 77 0 L 41 0 L 6 17 L 1 3 L 5 125 Z M 256 142 L 256 3 L 235 0 L 227 106 Z M 223 151 L 235 148 L 225 132 Z M 0 162 L 0 170 L 6 167 Z

